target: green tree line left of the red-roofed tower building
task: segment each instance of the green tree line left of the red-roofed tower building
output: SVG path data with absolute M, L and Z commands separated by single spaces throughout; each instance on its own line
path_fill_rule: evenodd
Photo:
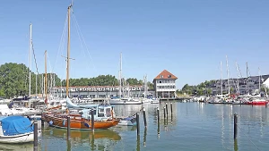
M 31 94 L 44 92 L 45 73 L 36 74 L 23 63 L 4 63 L 0 66 L 0 96 L 7 98 L 27 96 L 29 87 Z M 30 75 L 30 79 L 29 79 Z M 66 80 L 60 80 L 56 73 L 48 73 L 48 88 L 65 87 Z M 30 82 L 31 81 L 31 82 Z M 135 78 L 122 79 L 122 85 L 143 86 L 143 80 Z M 29 86 L 30 83 L 30 86 Z M 118 86 L 119 80 L 113 75 L 99 75 L 93 78 L 70 79 L 69 86 Z M 153 89 L 152 82 L 147 82 L 149 89 Z

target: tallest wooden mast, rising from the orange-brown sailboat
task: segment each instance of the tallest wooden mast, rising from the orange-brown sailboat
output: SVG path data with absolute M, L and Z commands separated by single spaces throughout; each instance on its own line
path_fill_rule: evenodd
M 66 98 L 68 97 L 69 89 L 69 59 L 70 59 L 70 9 L 72 4 L 68 6 L 68 39 L 67 39 L 67 58 L 66 58 Z

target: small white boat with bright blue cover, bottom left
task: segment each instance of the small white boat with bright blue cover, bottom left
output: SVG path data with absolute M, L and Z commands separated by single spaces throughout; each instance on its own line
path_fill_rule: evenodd
M 6 116 L 0 122 L 0 143 L 27 143 L 34 140 L 33 125 L 28 118 Z

